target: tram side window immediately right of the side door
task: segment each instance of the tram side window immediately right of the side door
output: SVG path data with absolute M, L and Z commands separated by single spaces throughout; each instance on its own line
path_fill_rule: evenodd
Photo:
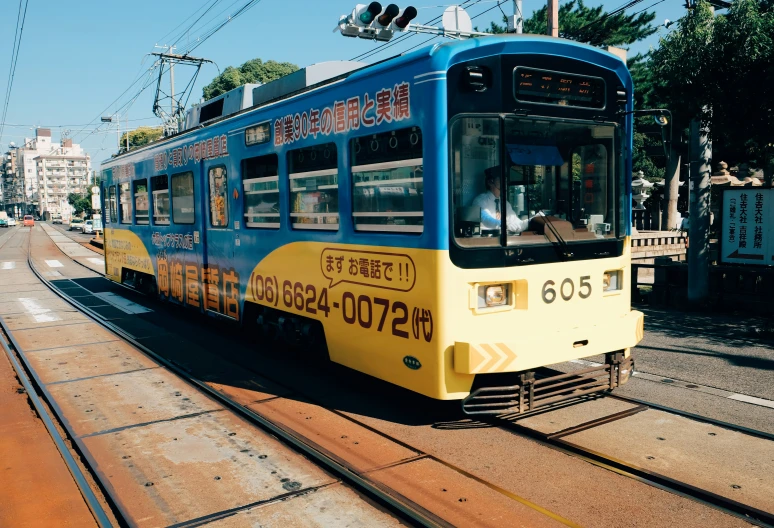
M 242 160 L 242 194 L 246 227 L 279 228 L 278 163 L 279 158 L 276 154 Z

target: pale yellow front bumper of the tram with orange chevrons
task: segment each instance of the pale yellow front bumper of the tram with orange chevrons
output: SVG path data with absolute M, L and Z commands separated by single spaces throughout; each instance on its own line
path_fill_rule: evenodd
M 497 343 L 454 343 L 454 371 L 459 374 L 493 374 L 519 372 L 544 366 L 540 358 L 550 357 L 551 363 L 561 363 L 579 357 L 594 356 L 635 346 L 643 337 L 642 312 L 632 311 L 615 324 L 606 320 L 602 325 L 554 333 L 533 333 L 516 341 Z M 542 350 L 545 354 L 522 351 Z

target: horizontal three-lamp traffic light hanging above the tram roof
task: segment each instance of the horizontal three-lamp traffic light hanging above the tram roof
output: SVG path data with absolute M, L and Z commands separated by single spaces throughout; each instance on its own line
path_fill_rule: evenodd
M 403 11 L 396 4 L 382 10 L 382 4 L 357 4 L 352 14 L 342 16 L 339 30 L 345 37 L 360 37 L 388 41 L 395 31 L 404 31 L 417 16 L 416 8 L 409 6 Z

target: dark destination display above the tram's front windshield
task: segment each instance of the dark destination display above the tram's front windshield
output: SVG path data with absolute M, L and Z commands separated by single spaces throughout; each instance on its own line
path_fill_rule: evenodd
M 518 66 L 513 72 L 514 96 L 525 103 L 583 108 L 605 107 L 605 81 L 537 68 Z

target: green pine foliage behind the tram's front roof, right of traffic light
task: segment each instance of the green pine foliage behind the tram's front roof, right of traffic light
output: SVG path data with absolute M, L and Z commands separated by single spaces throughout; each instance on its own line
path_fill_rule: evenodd
M 658 28 L 650 25 L 655 12 L 610 15 L 603 6 L 587 7 L 583 0 L 570 0 L 559 6 L 559 36 L 592 46 L 625 46 L 649 37 Z M 524 33 L 546 33 L 546 7 L 524 20 Z M 505 33 L 506 26 L 492 22 L 489 33 Z

